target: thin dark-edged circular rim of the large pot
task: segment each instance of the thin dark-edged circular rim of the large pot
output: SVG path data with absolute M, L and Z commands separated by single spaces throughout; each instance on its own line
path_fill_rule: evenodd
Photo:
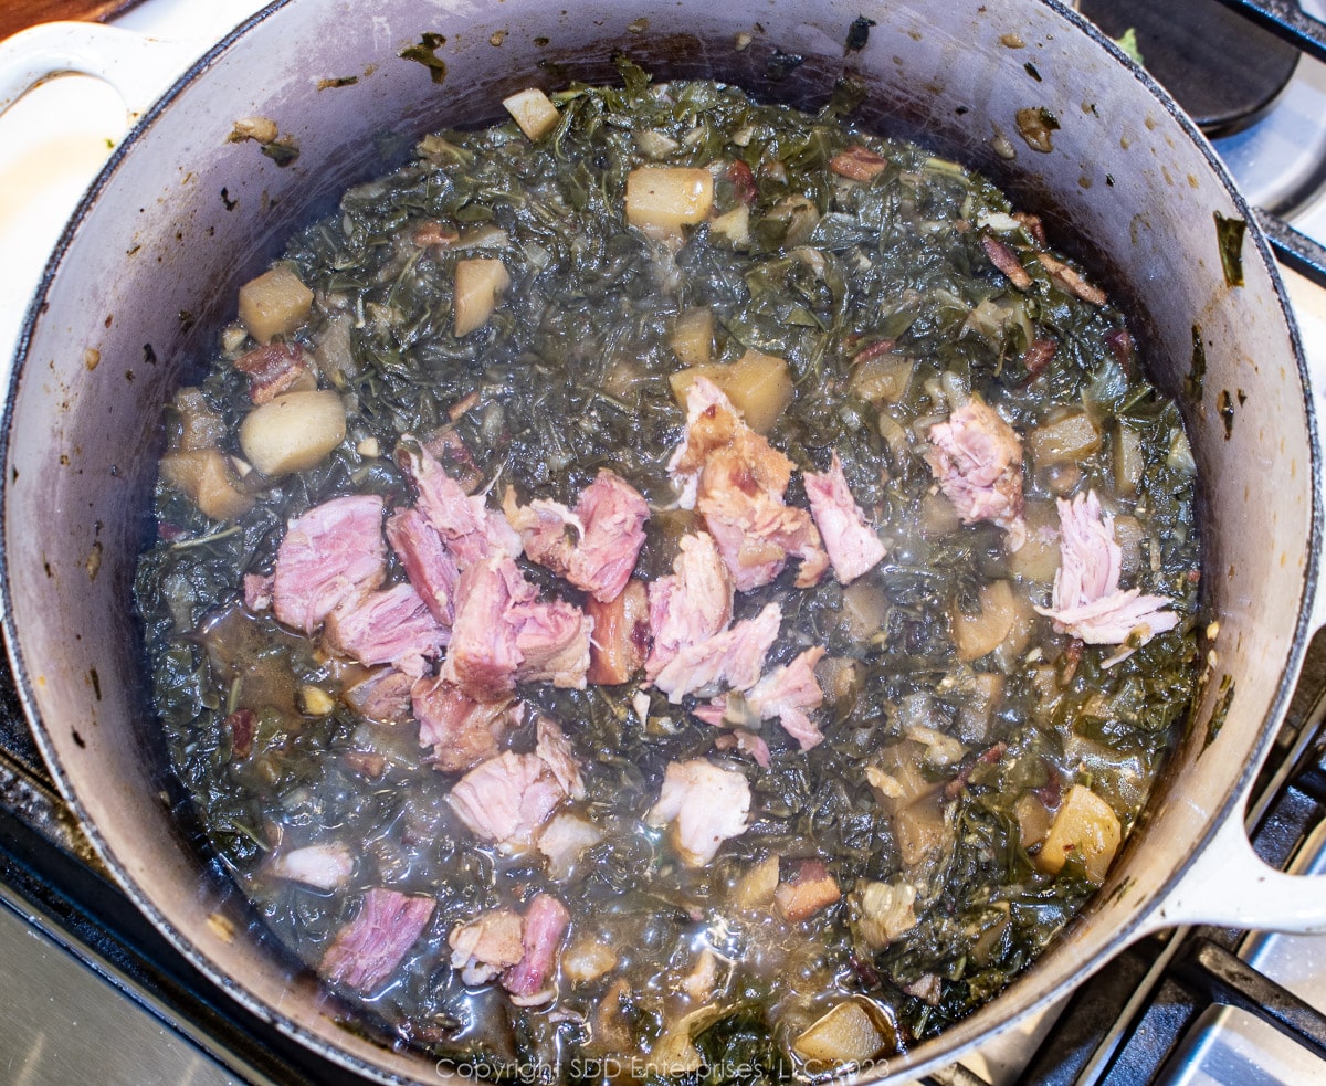
M 37 289 L 24 313 L 23 324 L 16 341 L 13 365 L 8 386 L 5 389 L 5 402 L 3 411 L 0 411 L 0 473 L 3 473 L 3 477 L 0 477 L 0 491 L 7 492 L 9 485 L 8 467 L 12 456 L 11 442 L 15 424 L 15 400 L 19 394 L 19 386 L 24 375 L 25 366 L 30 361 L 28 358 L 28 353 L 32 345 L 32 338 L 37 324 L 45 312 L 49 289 L 58 276 L 64 259 L 73 244 L 76 235 L 82 227 L 84 220 L 97 204 L 102 192 L 113 184 L 114 176 L 125 156 L 152 127 L 156 119 L 175 105 L 175 101 L 180 97 L 180 94 L 203 77 L 208 68 L 211 68 L 224 53 L 236 46 L 251 30 L 267 21 L 276 12 L 293 3 L 297 3 L 297 0 L 274 0 L 259 12 L 255 12 L 229 30 L 215 45 L 208 48 L 207 52 L 194 61 L 184 72 L 182 72 L 175 82 L 160 95 L 160 98 L 156 99 L 156 102 L 152 103 L 152 106 L 125 135 L 125 138 L 115 147 L 114 152 L 102 166 L 88 191 L 80 199 L 78 206 L 61 231 L 60 239 L 46 261 Z M 1245 797 L 1249 785 L 1252 784 L 1262 760 L 1274 741 L 1278 725 L 1284 720 L 1289 700 L 1294 692 L 1294 686 L 1298 679 L 1298 671 L 1302 664 L 1307 642 L 1314 633 L 1311 622 L 1313 602 L 1319 591 L 1323 522 L 1326 522 L 1326 511 L 1323 511 L 1323 472 L 1326 472 L 1326 467 L 1323 467 L 1321 424 L 1317 418 L 1315 404 L 1311 395 L 1310 374 L 1289 296 L 1280 276 L 1278 265 L 1272 253 L 1270 244 L 1257 221 L 1253 208 L 1248 204 L 1242 192 L 1238 190 L 1233 176 L 1229 174 L 1228 168 L 1212 149 L 1209 142 L 1201 135 L 1196 125 L 1185 113 L 1183 113 L 1168 93 L 1164 91 L 1144 69 L 1134 64 L 1111 38 L 1095 27 L 1095 24 L 1090 23 L 1074 8 L 1067 7 L 1062 3 L 1062 0 L 1033 0 L 1033 3 L 1038 3 L 1042 7 L 1049 8 L 1057 16 L 1073 25 L 1078 32 L 1085 33 L 1097 45 L 1110 53 L 1116 61 L 1116 65 L 1124 69 L 1126 74 L 1142 84 L 1146 93 L 1155 99 L 1155 102 L 1160 105 L 1166 113 L 1170 114 L 1171 119 L 1197 146 L 1208 167 L 1219 178 L 1240 216 L 1248 224 L 1246 236 L 1252 240 L 1257 256 L 1269 272 L 1270 285 L 1280 304 L 1281 317 L 1289 333 L 1294 354 L 1307 423 L 1310 452 L 1310 472 L 1307 477 L 1313 488 L 1310 504 L 1310 529 L 1305 550 L 1306 565 L 1302 574 L 1302 595 L 1298 603 L 1298 615 L 1294 623 L 1293 636 L 1281 670 L 1280 680 L 1276 686 L 1274 697 L 1268 713 L 1262 719 L 1257 741 L 1249 751 L 1249 757 L 1242 764 L 1238 773 L 1231 778 L 1225 794 L 1220 798 L 1219 804 L 1213 805 L 1212 812 L 1205 821 L 1204 829 L 1197 837 L 1195 837 L 1188 855 L 1183 859 L 1183 862 L 1174 867 L 1168 876 L 1160 883 L 1158 890 L 1155 890 L 1150 896 L 1135 902 L 1131 918 L 1120 926 L 1091 957 L 1081 963 L 1081 969 L 1074 980 L 1075 984 L 1102 968 L 1106 961 L 1109 961 L 1110 957 L 1124 945 L 1136 937 L 1140 937 L 1146 932 L 1155 930 L 1155 912 L 1160 903 L 1183 880 L 1195 861 L 1211 846 L 1219 827 L 1231 817 L 1240 817 L 1241 814 L 1241 812 L 1236 812 L 1235 808 Z M 358 1074 L 363 1074 L 370 1079 L 386 1083 L 402 1083 L 410 1081 L 387 1070 L 385 1065 L 366 1062 L 363 1058 L 350 1053 L 347 1049 L 339 1045 L 329 1044 L 322 1037 L 301 1025 L 298 1021 L 252 995 L 241 981 L 219 969 L 212 960 L 183 934 L 183 931 L 160 914 L 154 904 L 152 898 L 143 890 L 139 882 L 129 874 L 126 865 L 121 863 L 117 858 L 109 843 L 103 839 L 98 826 L 88 817 L 78 794 L 74 792 L 65 766 L 61 764 L 58 753 L 48 737 L 46 725 L 38 712 L 34 687 L 30 682 L 24 658 L 21 631 L 19 630 L 13 615 L 13 590 L 11 585 L 9 556 L 4 532 L 7 518 L 7 509 L 0 507 L 0 615 L 3 615 L 5 646 L 19 699 L 23 704 L 24 713 L 33 732 L 36 744 L 41 751 L 52 777 L 60 788 L 65 801 L 78 818 L 82 831 L 95 849 L 98 857 L 113 873 L 119 887 L 134 902 L 139 911 L 142 911 L 151 920 L 154 927 L 156 927 L 156 930 L 160 931 L 194 967 L 196 967 L 213 984 L 216 984 L 247 1010 L 252 1012 L 256 1017 L 277 1028 L 280 1032 L 306 1048 L 313 1049 L 324 1057 Z M 1028 973 L 1024 971 L 1021 977 L 1026 976 Z M 1017 979 L 1013 984 L 1017 985 Z M 1071 987 L 1073 985 L 1061 985 L 1050 988 L 1013 1012 L 1000 1012 L 1000 1004 L 1005 1001 L 1009 995 L 1013 995 L 1013 992 L 1017 991 L 1016 988 L 1010 988 L 1005 993 L 1001 993 L 984 1004 L 967 1018 L 956 1022 L 944 1033 L 924 1042 L 912 1053 L 904 1053 L 899 1057 L 890 1058 L 886 1070 L 890 1075 L 900 1071 L 906 1071 L 910 1075 L 918 1075 L 948 1066 L 963 1053 L 971 1052 L 977 1045 L 988 1041 L 997 1033 L 1001 1033 L 1017 1022 L 1026 1020 L 1029 1016 L 1042 1010 L 1050 1002 L 1059 998 L 1065 991 L 1069 991 Z M 927 1052 L 927 1049 L 932 1048 L 934 1052 Z M 382 1053 L 383 1057 L 389 1056 L 387 1049 L 382 1049 Z M 914 1059 L 914 1054 L 919 1054 L 923 1058 Z M 878 1074 L 862 1071 L 843 1077 L 841 1081 L 870 1082 L 878 1077 Z

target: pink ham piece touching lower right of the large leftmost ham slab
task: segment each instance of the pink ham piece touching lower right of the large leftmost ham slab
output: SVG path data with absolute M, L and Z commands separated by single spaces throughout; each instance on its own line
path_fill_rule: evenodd
M 322 642 L 365 667 L 391 664 L 420 676 L 442 655 L 443 630 L 412 585 L 395 585 L 341 603 L 328 615 Z

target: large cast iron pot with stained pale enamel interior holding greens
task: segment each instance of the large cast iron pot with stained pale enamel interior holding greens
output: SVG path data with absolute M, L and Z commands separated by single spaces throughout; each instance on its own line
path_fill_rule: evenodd
M 849 48 L 861 15 L 874 25 Z M 426 32 L 446 36 L 430 38 L 435 64 L 400 58 Z M 879 130 L 985 170 L 1045 216 L 1054 244 L 1089 260 L 1135 314 L 1200 465 L 1203 582 L 1219 635 L 1200 708 L 1142 823 L 1082 916 L 1004 995 L 871 1077 L 951 1062 L 1164 926 L 1326 927 L 1326 894 L 1261 867 L 1242 829 L 1321 625 L 1321 453 L 1297 333 L 1254 225 L 1244 284 L 1225 281 L 1213 216 L 1250 215 L 1209 147 L 1053 0 L 286 0 L 199 61 L 65 232 L 28 314 L 3 427 L 11 659 L 52 773 L 125 891 L 278 1029 L 379 1081 L 435 1079 L 427 1057 L 338 1025 L 345 1005 L 271 945 L 184 829 L 146 708 L 130 581 L 162 403 L 182 366 L 208 354 L 239 284 L 292 228 L 391 164 L 379 149 L 402 141 L 385 134 L 408 146 L 500 115 L 500 99 L 525 86 L 611 81 L 617 50 L 656 78 L 716 77 L 801 105 L 822 102 L 842 74 L 863 82 Z M 1020 135 L 1026 109 L 1053 114 L 1052 150 Z M 251 115 L 276 119 L 297 162 L 282 168 L 253 143 L 227 142 Z M 1197 339 L 1204 378 L 1192 373 Z

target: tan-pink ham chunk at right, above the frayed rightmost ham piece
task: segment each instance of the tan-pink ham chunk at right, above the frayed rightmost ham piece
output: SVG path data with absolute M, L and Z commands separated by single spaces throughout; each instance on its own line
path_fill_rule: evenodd
M 1017 550 L 1022 522 L 1022 446 L 994 408 L 972 399 L 930 428 L 926 463 L 964 524 L 989 520 Z

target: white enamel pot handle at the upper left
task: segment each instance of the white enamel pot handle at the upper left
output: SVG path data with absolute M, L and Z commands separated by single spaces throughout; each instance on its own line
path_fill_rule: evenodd
M 54 76 L 91 76 L 119 93 L 133 126 L 196 56 L 196 45 L 98 23 L 44 23 L 0 44 L 0 113 Z

